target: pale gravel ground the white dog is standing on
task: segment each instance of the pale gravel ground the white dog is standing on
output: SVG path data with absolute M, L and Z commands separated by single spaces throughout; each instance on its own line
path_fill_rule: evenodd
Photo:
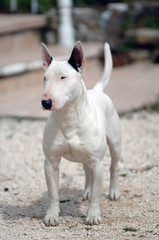
M 47 188 L 41 148 L 45 121 L 0 119 L 0 239 L 159 239 L 159 114 L 121 118 L 120 201 L 107 198 L 110 157 L 101 193 L 103 224 L 86 226 L 88 202 L 81 201 L 82 166 L 60 165 L 61 216 L 45 227 Z

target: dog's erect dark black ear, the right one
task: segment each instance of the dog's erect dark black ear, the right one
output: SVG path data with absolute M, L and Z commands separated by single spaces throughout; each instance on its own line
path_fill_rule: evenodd
M 77 71 L 82 73 L 85 66 L 85 58 L 81 43 L 78 41 L 72 50 L 68 63 Z

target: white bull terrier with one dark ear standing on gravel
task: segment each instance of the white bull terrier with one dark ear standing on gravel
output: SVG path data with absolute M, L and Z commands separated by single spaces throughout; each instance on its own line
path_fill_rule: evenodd
M 121 154 L 120 120 L 111 99 L 103 93 L 112 71 L 112 57 L 108 43 L 104 45 L 104 73 L 92 90 L 82 79 L 85 57 L 78 41 L 68 61 L 56 61 L 42 43 L 41 57 L 44 74 L 42 108 L 51 111 L 44 136 L 44 171 L 48 187 L 49 206 L 44 218 L 46 226 L 59 223 L 59 163 L 61 157 L 83 164 L 86 181 L 83 199 L 89 199 L 85 223 L 98 225 L 103 159 L 110 149 L 111 200 L 120 198 L 118 161 Z

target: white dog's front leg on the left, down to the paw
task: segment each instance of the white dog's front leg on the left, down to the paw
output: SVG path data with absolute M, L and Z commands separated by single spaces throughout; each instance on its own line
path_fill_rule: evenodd
M 46 159 L 44 163 L 49 197 L 49 206 L 44 218 L 46 226 L 57 226 L 59 222 L 59 163 L 60 159 Z

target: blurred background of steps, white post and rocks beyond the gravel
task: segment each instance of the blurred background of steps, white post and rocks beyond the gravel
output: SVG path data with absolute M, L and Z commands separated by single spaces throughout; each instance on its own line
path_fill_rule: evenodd
M 65 60 L 77 40 L 88 88 L 102 75 L 109 42 L 114 69 L 106 93 L 119 113 L 158 102 L 159 1 L 1 0 L 0 115 L 46 117 L 40 44 Z

